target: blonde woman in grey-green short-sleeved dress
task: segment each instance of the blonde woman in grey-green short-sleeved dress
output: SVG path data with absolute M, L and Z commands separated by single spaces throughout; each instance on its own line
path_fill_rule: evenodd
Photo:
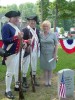
M 45 85 L 51 86 L 52 71 L 56 68 L 58 51 L 57 36 L 50 31 L 51 23 L 45 20 L 40 32 L 40 67 L 44 71 Z M 53 60 L 49 62 L 49 60 Z

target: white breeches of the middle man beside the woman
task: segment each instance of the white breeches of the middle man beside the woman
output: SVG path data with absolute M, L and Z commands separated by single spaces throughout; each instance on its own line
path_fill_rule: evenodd
M 30 60 L 31 60 L 31 64 L 30 64 Z M 36 51 L 31 53 L 31 59 L 30 59 L 30 55 L 23 58 L 23 66 L 22 66 L 23 77 L 26 77 L 27 75 L 29 64 L 32 68 L 32 75 L 35 75 L 36 70 L 37 70 L 37 52 Z

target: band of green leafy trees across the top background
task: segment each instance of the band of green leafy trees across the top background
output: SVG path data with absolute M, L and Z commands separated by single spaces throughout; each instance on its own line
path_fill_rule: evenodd
M 0 14 L 4 15 L 9 10 L 20 10 L 21 18 L 37 14 L 40 21 L 50 20 L 52 27 L 54 23 L 58 27 L 64 27 L 68 31 L 70 27 L 75 27 L 75 1 L 55 0 L 38 0 L 36 4 L 24 3 L 19 7 L 16 4 L 7 7 L 0 7 Z

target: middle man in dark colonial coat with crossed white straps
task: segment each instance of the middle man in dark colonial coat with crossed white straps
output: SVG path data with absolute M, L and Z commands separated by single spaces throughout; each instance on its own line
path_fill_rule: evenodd
M 37 70 L 37 50 L 38 50 L 38 42 L 39 42 L 39 30 L 36 28 L 36 24 L 38 23 L 38 17 L 37 16 L 30 16 L 27 18 L 28 25 L 25 27 L 22 31 L 24 33 L 23 39 L 28 40 L 31 39 L 31 45 L 27 45 L 27 50 L 25 50 L 24 58 L 23 58 L 23 87 L 28 88 L 27 84 L 27 72 L 31 60 L 31 68 L 32 68 L 32 75 L 34 79 L 34 84 L 36 86 L 39 86 L 39 84 L 36 82 L 36 70 Z M 31 58 L 30 58 L 30 48 L 31 50 Z M 29 51 L 29 52 L 28 52 Z

